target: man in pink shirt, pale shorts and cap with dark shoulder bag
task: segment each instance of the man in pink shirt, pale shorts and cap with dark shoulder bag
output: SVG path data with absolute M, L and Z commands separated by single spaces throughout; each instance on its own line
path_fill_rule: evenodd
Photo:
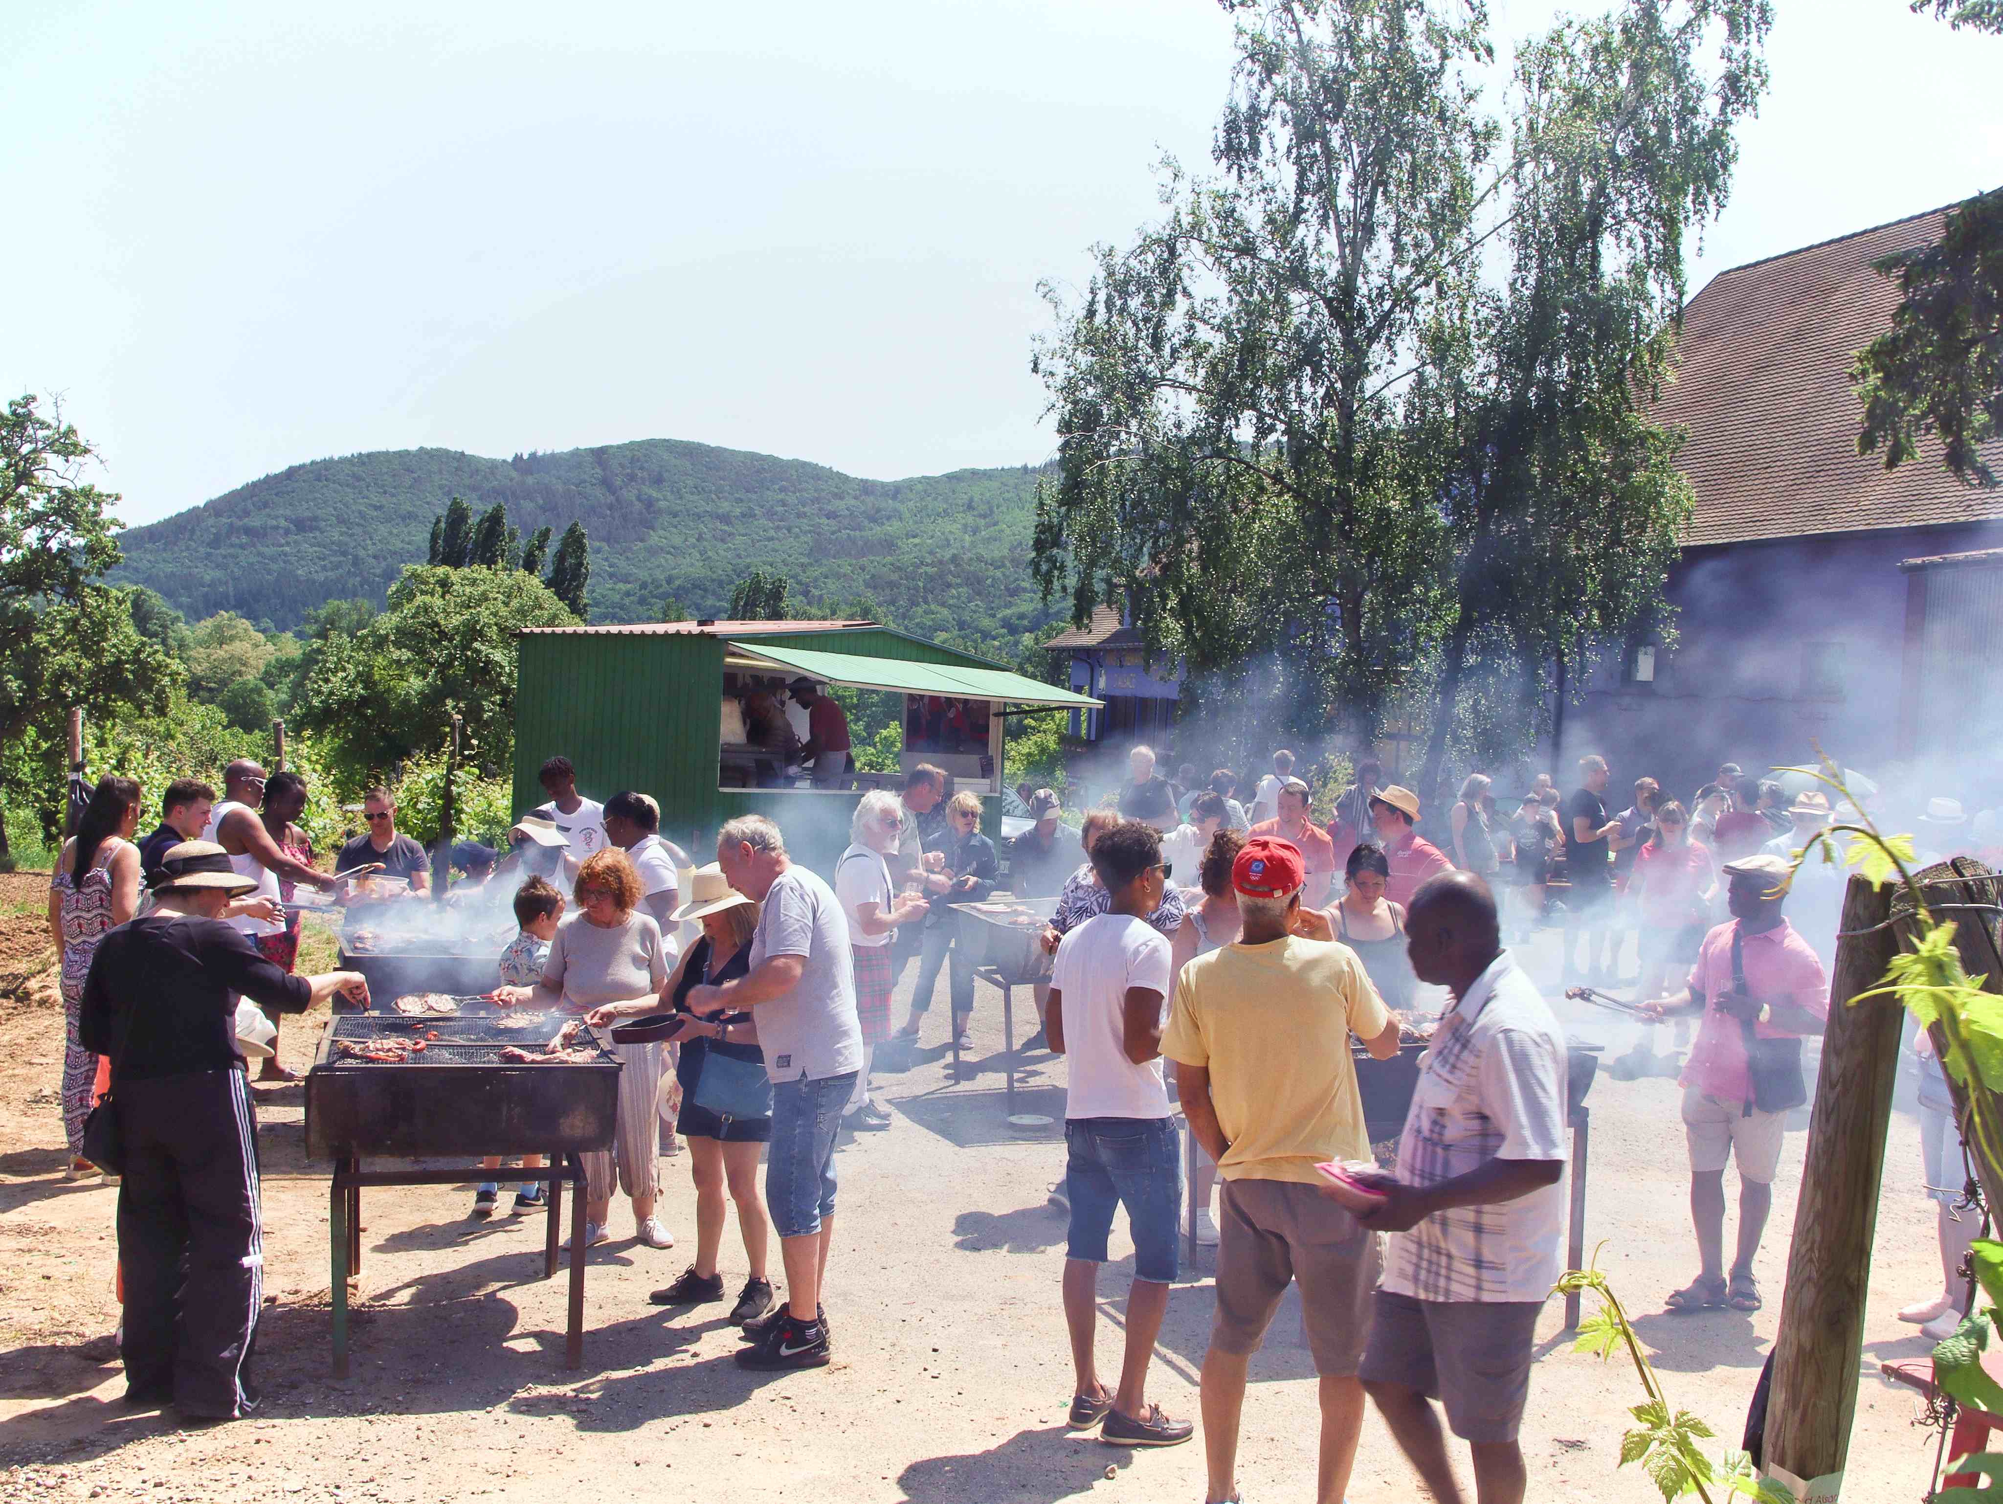
M 1725 863 L 1733 919 L 1705 935 L 1691 969 L 1689 993 L 1646 1005 L 1658 1017 L 1671 1011 L 1705 1015 L 1683 1071 L 1691 1220 L 1697 1224 L 1703 1270 L 1668 1298 L 1673 1312 L 1707 1306 L 1741 1312 L 1761 1308 L 1753 1258 L 1773 1210 L 1773 1178 L 1787 1132 L 1789 1107 L 1779 1101 L 1793 1097 L 1799 1105 L 1805 1093 L 1799 1087 L 1799 1065 L 1791 1081 L 1783 1079 L 1779 1099 L 1771 1087 L 1763 1093 L 1749 1063 L 1749 1041 L 1793 1039 L 1799 1051 L 1801 1035 L 1821 1033 L 1829 1017 L 1823 961 L 1781 915 L 1787 871 L 1789 863 L 1769 855 Z M 1785 1067 L 1779 1075 L 1787 1075 Z M 1795 1089 L 1789 1091 L 1787 1085 Z M 1767 1107 L 1761 1105 L 1763 1097 Z M 1725 1164 L 1733 1158 L 1739 1160 L 1739 1252 L 1727 1278 Z

